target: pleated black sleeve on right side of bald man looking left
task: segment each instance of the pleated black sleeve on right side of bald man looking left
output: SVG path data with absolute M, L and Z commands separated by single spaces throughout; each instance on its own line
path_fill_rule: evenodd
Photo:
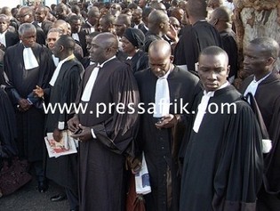
M 112 102 L 115 102 L 115 105 L 123 104 L 124 113 L 117 112 L 115 106 L 111 118 L 103 124 L 92 126 L 93 132 L 97 141 L 104 144 L 108 150 L 134 156 L 134 138 L 139 126 L 137 106 L 140 96 L 128 65 L 123 66 L 123 69 L 116 69 L 110 78 L 110 90 Z M 130 112 L 132 110 L 129 107 L 133 108 L 133 112 Z

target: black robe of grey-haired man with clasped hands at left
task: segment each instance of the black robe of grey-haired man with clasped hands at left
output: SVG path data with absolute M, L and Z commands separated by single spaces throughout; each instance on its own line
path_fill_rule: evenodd
M 9 47 L 4 54 L 4 71 L 9 78 L 7 92 L 12 105 L 16 108 L 21 98 L 33 101 L 33 105 L 25 112 L 16 111 L 18 147 L 20 156 L 28 158 L 29 161 L 42 160 L 44 144 L 44 110 L 42 99 L 34 97 L 33 89 L 36 85 L 42 88 L 49 86 L 52 72 L 55 69 L 49 50 L 36 44 L 32 48 L 38 61 L 39 67 L 25 69 L 23 62 L 22 43 Z

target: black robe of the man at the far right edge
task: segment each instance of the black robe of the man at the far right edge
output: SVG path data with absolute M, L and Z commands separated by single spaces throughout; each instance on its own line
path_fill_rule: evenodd
M 253 76 L 247 77 L 241 86 L 244 93 L 252 82 Z M 280 193 L 280 79 L 277 73 L 271 73 L 258 85 L 255 93 L 261 116 L 268 129 L 272 150 L 264 155 L 264 185 L 270 194 Z M 278 200 L 278 204 L 280 199 Z M 267 202 L 268 203 L 268 202 Z M 269 207 L 269 205 L 268 205 Z M 277 208 L 276 208 L 277 209 Z M 275 209 L 274 209 L 275 210 Z

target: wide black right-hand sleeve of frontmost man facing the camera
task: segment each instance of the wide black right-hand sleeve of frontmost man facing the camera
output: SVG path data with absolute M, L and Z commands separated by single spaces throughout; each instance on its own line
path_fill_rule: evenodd
M 255 210 L 263 171 L 260 127 L 244 101 L 236 102 L 236 114 L 228 118 L 214 176 L 213 210 Z

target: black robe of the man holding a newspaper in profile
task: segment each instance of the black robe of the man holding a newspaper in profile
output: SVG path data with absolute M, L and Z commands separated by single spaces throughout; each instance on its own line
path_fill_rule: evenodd
M 60 103 L 61 106 L 64 104 L 70 106 L 71 103 L 74 103 L 83 73 L 84 68 L 79 61 L 76 59 L 65 61 L 54 86 L 51 86 L 49 103 L 52 106 L 55 103 Z M 46 132 L 52 133 L 55 128 L 58 128 L 59 121 L 64 122 L 67 126 L 70 117 L 70 114 L 60 113 L 60 110 L 56 110 L 54 114 L 48 113 L 45 124 Z M 44 161 L 46 177 L 77 195 L 77 155 L 71 154 L 59 158 L 49 158 L 46 155 Z

